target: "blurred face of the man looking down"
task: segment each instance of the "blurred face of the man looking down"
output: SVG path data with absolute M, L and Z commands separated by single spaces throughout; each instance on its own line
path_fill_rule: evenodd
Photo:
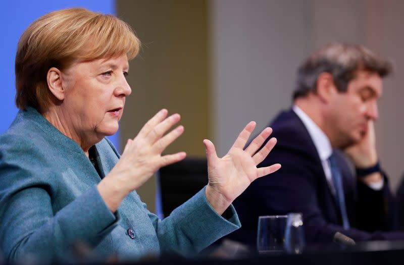
M 383 90 L 376 73 L 360 70 L 348 83 L 346 92 L 336 92 L 330 100 L 329 126 L 335 147 L 344 148 L 360 141 L 370 120 L 378 118 L 377 99 Z

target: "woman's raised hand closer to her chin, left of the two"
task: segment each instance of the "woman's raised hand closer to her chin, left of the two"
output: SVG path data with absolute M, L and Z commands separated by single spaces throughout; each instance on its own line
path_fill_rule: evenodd
M 185 158 L 185 152 L 162 155 L 162 152 L 183 132 L 182 125 L 164 135 L 181 119 L 179 114 L 166 118 L 166 109 L 158 112 L 140 130 L 134 139 L 129 139 L 120 160 L 97 188 L 104 201 L 115 212 L 125 196 L 139 188 L 161 167 Z

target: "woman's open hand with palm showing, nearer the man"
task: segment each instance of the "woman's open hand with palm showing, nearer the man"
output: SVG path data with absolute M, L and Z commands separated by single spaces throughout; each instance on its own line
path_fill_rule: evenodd
M 276 138 L 271 138 L 265 146 L 257 152 L 264 141 L 272 133 L 271 128 L 263 130 L 245 149 L 251 132 L 256 127 L 250 122 L 238 135 L 233 146 L 225 156 L 219 158 L 215 146 L 210 140 L 204 140 L 208 157 L 209 183 L 206 196 L 212 207 L 219 215 L 230 206 L 249 184 L 259 177 L 271 174 L 281 168 L 280 164 L 257 168 L 276 144 Z M 256 153 L 257 152 L 257 153 Z

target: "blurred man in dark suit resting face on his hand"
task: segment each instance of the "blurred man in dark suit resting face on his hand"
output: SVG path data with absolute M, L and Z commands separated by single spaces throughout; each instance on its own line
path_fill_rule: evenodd
M 339 43 L 298 68 L 293 106 L 270 124 L 278 143 L 260 165 L 276 162 L 282 169 L 235 201 L 242 228 L 233 239 L 254 245 L 259 216 L 287 213 L 302 213 L 309 243 L 332 242 L 336 232 L 357 241 L 404 239 L 404 233 L 381 232 L 394 222 L 373 121 L 390 72 L 391 64 L 369 49 Z

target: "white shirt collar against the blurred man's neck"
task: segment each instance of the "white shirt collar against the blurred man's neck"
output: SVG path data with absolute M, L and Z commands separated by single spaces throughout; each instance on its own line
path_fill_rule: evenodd
M 320 127 L 299 107 L 293 105 L 292 109 L 309 131 L 310 137 L 312 138 L 320 156 L 320 160 L 326 161 L 332 154 L 330 139 L 328 139 L 327 135 L 325 135 Z

